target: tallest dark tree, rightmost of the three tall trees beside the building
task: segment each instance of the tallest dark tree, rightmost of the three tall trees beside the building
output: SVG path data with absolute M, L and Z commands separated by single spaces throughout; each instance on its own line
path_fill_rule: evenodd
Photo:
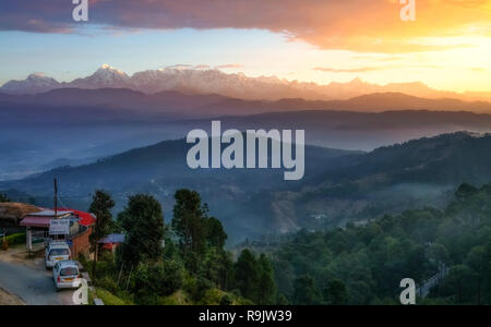
M 175 195 L 172 229 L 180 239 L 184 254 L 203 254 L 206 245 L 206 228 L 203 218 L 207 207 L 202 206 L 201 196 L 195 191 L 179 190 Z

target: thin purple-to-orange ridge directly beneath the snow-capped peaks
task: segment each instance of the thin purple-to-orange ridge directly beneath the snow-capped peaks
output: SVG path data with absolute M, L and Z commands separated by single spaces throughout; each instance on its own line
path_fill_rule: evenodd
M 108 106 L 145 112 L 187 113 L 202 116 L 247 116 L 265 112 L 306 110 L 344 110 L 357 112 L 383 112 L 399 110 L 472 111 L 491 113 L 491 102 L 465 101 L 455 98 L 422 98 L 403 93 L 373 93 L 346 100 L 309 100 L 280 98 L 278 100 L 247 100 L 219 94 L 189 94 L 176 89 L 154 94 L 131 88 L 56 88 L 33 95 L 0 93 L 0 104 L 48 105 L 52 107 Z M 168 113 L 168 112 L 167 112 Z

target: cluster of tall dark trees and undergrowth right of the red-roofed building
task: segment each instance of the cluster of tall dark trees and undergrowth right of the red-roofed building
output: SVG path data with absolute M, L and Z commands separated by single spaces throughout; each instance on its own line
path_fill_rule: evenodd
M 94 246 L 109 232 L 124 232 L 116 254 L 99 254 L 92 265 L 96 294 L 109 304 L 274 304 L 276 284 L 270 259 L 244 250 L 233 261 L 224 249 L 227 234 L 208 215 L 200 194 L 179 190 L 173 217 L 166 225 L 160 204 L 151 195 L 131 196 L 112 219 L 115 202 L 94 195 L 97 215 Z

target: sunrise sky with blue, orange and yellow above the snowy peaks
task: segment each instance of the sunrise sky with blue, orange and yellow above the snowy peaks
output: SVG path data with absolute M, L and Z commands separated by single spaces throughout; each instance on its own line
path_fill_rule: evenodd
M 328 84 L 420 81 L 491 90 L 491 1 L 1 0 L 0 84 L 44 73 L 86 76 L 103 63 L 132 74 L 176 64 Z M 410 0 L 403 0 L 410 1 Z

